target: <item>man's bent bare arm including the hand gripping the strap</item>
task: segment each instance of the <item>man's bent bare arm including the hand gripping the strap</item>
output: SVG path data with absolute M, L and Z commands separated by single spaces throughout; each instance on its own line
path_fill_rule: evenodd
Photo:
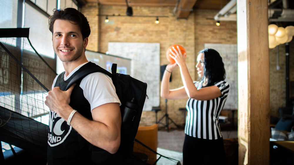
M 48 92 L 45 104 L 67 122 L 74 110 L 69 106 L 74 85 L 67 91 L 54 87 Z M 111 154 L 117 152 L 120 145 L 121 112 L 118 103 L 107 103 L 92 110 L 93 121 L 76 112 L 70 125 L 91 144 Z

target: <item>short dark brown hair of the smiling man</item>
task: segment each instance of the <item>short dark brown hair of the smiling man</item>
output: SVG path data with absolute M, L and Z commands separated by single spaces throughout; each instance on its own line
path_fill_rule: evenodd
M 56 19 L 68 20 L 80 27 L 83 39 L 90 35 L 90 25 L 87 18 L 78 10 L 74 8 L 54 9 L 53 15 L 49 17 L 49 30 L 53 34 L 53 25 Z

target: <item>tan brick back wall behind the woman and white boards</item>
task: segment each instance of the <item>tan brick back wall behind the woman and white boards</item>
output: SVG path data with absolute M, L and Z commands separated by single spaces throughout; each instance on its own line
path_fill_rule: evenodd
M 103 6 L 97 3 L 88 3 L 81 10 L 88 18 L 91 26 L 91 35 L 87 49 L 93 51 L 106 52 L 108 42 L 147 42 L 160 43 L 160 65 L 168 64 L 166 50 L 172 44 L 180 44 L 187 51 L 186 63 L 193 80 L 197 80 L 195 72 L 197 52 L 204 48 L 204 43 L 224 43 L 237 44 L 237 24 L 235 21 L 221 21 L 220 26 L 216 26 L 212 20 L 217 10 L 196 9 L 190 13 L 188 19 L 176 19 L 173 16 L 173 7 L 133 7 L 134 15 L 144 16 L 168 16 L 159 17 L 159 24 L 155 24 L 155 17 L 128 17 L 111 16 L 126 15 L 126 6 Z M 105 23 L 105 16 L 97 14 L 107 14 L 109 22 Z M 293 41 L 290 45 L 293 47 Z M 272 114 L 285 102 L 285 52 L 284 46 L 279 46 L 281 70 L 275 70 L 276 49 L 270 49 L 270 110 Z M 293 54 L 293 50 L 290 50 Z M 290 53 L 291 54 L 291 53 Z M 293 63 L 291 59 L 290 63 Z M 291 70 L 294 68 L 291 67 Z M 294 72 L 290 76 L 294 79 Z M 178 69 L 172 73 L 171 88 L 183 85 Z M 149 87 L 149 86 L 148 86 Z M 178 125 L 184 123 L 183 111 L 179 108 L 185 107 L 187 99 L 168 100 L 168 114 Z M 160 99 L 161 111 L 158 112 L 158 119 L 164 115 L 165 99 Z M 235 114 L 237 115 L 237 113 Z M 235 116 L 237 117 L 237 116 Z M 237 120 L 235 120 L 237 121 Z M 165 123 L 165 120 L 162 120 Z M 140 126 L 155 123 L 155 112 L 144 111 Z M 162 126 L 162 125 L 159 125 Z M 173 124 L 170 127 L 175 127 Z

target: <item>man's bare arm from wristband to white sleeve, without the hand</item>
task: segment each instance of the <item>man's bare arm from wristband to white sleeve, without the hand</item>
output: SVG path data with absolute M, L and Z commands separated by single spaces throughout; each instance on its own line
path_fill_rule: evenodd
M 91 144 L 111 154 L 121 142 L 121 111 L 118 103 L 100 105 L 92 110 L 93 121 L 75 113 L 71 126 Z

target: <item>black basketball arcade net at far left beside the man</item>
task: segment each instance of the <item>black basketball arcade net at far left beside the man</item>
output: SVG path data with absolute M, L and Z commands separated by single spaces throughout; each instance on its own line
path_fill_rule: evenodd
M 56 67 L 56 59 L 43 58 Z M 49 108 L 44 101 L 55 76 L 28 38 L 0 38 L 1 141 L 46 157 Z

